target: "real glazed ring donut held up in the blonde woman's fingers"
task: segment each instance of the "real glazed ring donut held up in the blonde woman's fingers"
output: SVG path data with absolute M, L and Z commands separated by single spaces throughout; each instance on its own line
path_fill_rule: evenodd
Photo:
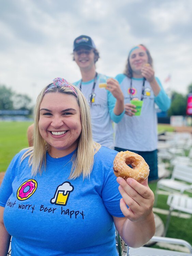
M 132 168 L 128 165 L 131 165 Z M 115 176 L 120 176 L 124 180 L 133 178 L 139 183 L 143 183 L 149 176 L 149 166 L 144 158 L 130 151 L 117 153 L 113 162 L 113 170 Z

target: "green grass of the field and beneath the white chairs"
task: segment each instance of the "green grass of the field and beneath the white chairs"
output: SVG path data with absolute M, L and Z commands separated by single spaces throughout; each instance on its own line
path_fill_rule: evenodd
M 5 171 L 13 156 L 21 149 L 28 147 L 27 128 L 30 122 L 0 122 L 0 171 Z M 158 132 L 173 131 L 168 125 L 158 125 Z M 153 193 L 157 183 L 150 183 Z M 168 210 L 167 196 L 159 195 L 158 208 Z M 159 214 L 162 221 L 166 222 L 166 215 Z M 179 238 L 192 244 L 192 219 L 171 217 L 167 237 Z

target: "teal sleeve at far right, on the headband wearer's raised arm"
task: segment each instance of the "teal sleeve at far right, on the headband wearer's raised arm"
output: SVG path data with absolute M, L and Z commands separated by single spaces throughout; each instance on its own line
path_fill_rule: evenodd
M 171 99 L 165 93 L 165 90 L 163 89 L 163 86 L 158 77 L 156 77 L 156 81 L 159 84 L 161 90 L 159 94 L 155 96 L 154 101 L 162 111 L 167 111 L 170 108 Z

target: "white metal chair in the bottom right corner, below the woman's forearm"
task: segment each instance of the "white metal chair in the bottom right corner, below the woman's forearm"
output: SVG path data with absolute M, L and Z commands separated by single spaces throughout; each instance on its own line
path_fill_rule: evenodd
M 185 240 L 154 236 L 151 238 L 150 241 L 182 245 L 187 247 L 190 253 L 169 251 L 169 250 L 144 247 L 144 246 L 139 248 L 132 248 L 128 246 L 127 256 L 192 256 L 192 246 Z

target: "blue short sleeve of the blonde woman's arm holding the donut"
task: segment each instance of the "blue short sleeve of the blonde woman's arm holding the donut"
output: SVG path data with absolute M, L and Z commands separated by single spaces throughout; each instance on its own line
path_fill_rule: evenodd
M 113 163 L 109 168 L 108 174 L 105 177 L 102 188 L 102 199 L 107 211 L 115 217 L 124 217 L 120 209 L 119 184 L 116 181 L 116 176 L 113 171 Z

